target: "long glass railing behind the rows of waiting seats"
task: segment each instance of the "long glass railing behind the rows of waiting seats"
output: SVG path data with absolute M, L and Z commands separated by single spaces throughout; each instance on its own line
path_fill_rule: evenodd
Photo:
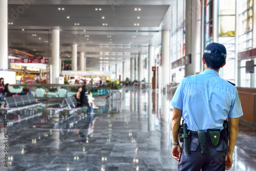
M 11 84 L 9 91 L 11 94 L 20 94 L 23 88 L 28 88 L 36 98 L 65 98 L 74 96 L 81 84 Z M 93 97 L 105 96 L 112 94 L 110 88 L 97 87 L 94 85 L 87 85 L 87 88 L 92 92 Z

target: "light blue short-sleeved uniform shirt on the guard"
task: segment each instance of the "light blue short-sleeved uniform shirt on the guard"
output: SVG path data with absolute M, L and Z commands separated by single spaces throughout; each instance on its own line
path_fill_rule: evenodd
M 223 129 L 227 117 L 243 115 L 235 86 L 212 69 L 185 77 L 179 84 L 171 104 L 182 110 L 182 117 L 191 131 Z

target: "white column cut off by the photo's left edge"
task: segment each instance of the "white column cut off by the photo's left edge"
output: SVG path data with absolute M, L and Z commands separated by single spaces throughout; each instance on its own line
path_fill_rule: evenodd
M 0 69 L 8 69 L 8 1 L 0 1 Z

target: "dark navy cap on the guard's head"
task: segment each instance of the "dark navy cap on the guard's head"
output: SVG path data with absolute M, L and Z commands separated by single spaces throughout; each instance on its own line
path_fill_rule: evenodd
M 221 53 L 218 53 L 220 51 Z M 204 54 L 209 54 L 209 55 L 216 55 L 220 56 L 223 58 L 227 57 L 227 51 L 224 45 L 218 44 L 216 42 L 210 43 L 204 50 Z

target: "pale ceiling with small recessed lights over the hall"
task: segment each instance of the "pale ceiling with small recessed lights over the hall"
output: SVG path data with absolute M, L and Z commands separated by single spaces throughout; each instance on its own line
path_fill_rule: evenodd
M 9 47 L 51 60 L 51 29 L 57 28 L 61 30 L 61 58 L 70 59 L 71 46 L 76 43 L 78 53 L 84 52 L 92 67 L 122 62 L 137 57 L 139 52 L 146 53 L 148 44 L 159 45 L 161 30 L 170 28 L 170 7 L 176 3 L 173 0 L 29 1 L 34 2 L 26 4 L 24 11 L 19 11 L 24 7 L 20 0 L 8 1 L 9 22 L 13 23 L 8 27 Z

